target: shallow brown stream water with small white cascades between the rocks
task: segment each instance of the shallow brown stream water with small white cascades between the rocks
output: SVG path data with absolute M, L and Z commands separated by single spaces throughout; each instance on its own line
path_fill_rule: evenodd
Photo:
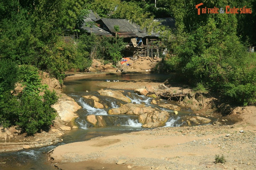
M 107 74 L 101 75 L 92 78 L 84 78 L 78 80 L 65 81 L 64 87 L 62 91 L 66 93 L 68 96 L 74 98 L 77 103 L 82 107 L 82 109 L 78 110 L 77 113 L 79 118 L 76 119 L 76 124 L 79 129 L 72 129 L 65 133 L 62 137 L 63 142 L 58 143 L 56 145 L 23 150 L 18 152 L 7 152 L 0 154 L 0 169 L 4 170 L 55 170 L 54 166 L 50 165 L 47 161 L 48 157 L 45 154 L 48 151 L 52 150 L 58 145 L 67 144 L 71 142 L 78 142 L 89 140 L 93 137 L 98 136 L 109 136 L 116 135 L 121 133 L 127 133 L 131 131 L 144 130 L 141 128 L 141 124 L 138 122 L 137 116 L 134 115 L 115 115 L 113 117 L 108 117 L 110 115 L 107 114 L 108 109 L 113 107 L 119 107 L 117 105 L 117 101 L 113 98 L 100 96 L 97 90 L 103 88 L 97 86 L 98 83 L 105 81 L 138 81 L 138 80 L 150 80 L 152 82 L 164 82 L 171 75 L 169 74 Z M 122 89 L 122 87 L 120 87 Z M 86 92 L 89 91 L 89 92 Z M 82 96 L 84 95 L 95 95 L 100 100 L 104 100 L 105 103 L 110 107 L 107 109 L 96 109 L 91 107 L 89 103 L 87 103 Z M 152 98 L 148 98 L 146 96 L 140 96 L 135 94 L 131 90 L 124 90 L 124 95 L 129 97 L 132 102 L 135 103 L 143 103 L 146 106 L 158 107 L 162 110 L 166 110 L 170 113 L 170 119 L 166 122 L 166 127 L 174 127 L 180 126 L 183 122 L 181 122 L 181 118 L 183 115 L 192 114 L 191 111 L 187 109 L 183 109 L 179 111 L 179 115 L 174 115 L 172 110 L 168 110 L 166 108 L 161 108 L 156 105 L 150 104 Z M 163 101 L 166 103 L 167 101 Z M 170 102 L 169 102 L 170 103 Z M 174 104 L 174 103 L 172 103 Z M 91 127 L 90 124 L 86 122 L 87 115 L 103 115 L 104 117 L 111 118 L 111 120 L 107 122 L 106 127 L 95 128 Z M 106 119 L 107 120 L 107 119 Z M 110 119 L 109 119 L 110 120 Z

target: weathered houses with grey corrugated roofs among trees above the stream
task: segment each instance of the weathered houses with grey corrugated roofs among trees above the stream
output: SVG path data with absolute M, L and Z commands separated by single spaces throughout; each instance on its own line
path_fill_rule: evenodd
M 174 18 L 155 18 L 154 21 L 159 22 L 160 26 L 166 26 L 175 29 Z M 115 26 L 119 27 L 116 33 Z M 124 38 L 126 45 L 125 56 L 151 56 L 159 57 L 165 47 L 159 39 L 160 34 L 151 32 L 147 33 L 146 29 L 141 29 L 136 23 L 132 23 L 127 19 L 111 19 L 100 18 L 97 13 L 90 11 L 90 14 L 84 18 L 84 30 L 88 33 L 96 35 L 115 36 Z

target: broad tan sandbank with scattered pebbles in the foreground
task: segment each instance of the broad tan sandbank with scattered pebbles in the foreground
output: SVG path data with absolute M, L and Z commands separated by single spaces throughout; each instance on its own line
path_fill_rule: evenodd
M 51 158 L 63 170 L 255 169 L 255 130 L 255 125 L 246 122 L 156 128 L 61 145 Z M 214 164 L 216 154 L 223 154 L 227 162 Z M 116 165 L 122 159 L 125 164 Z

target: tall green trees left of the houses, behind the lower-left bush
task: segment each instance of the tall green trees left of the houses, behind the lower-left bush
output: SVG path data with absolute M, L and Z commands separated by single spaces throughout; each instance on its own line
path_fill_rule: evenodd
M 84 0 L 1 1 L 0 59 L 33 65 L 60 81 L 68 69 L 83 71 L 90 66 L 88 52 L 61 36 L 77 35 L 88 13 L 85 5 Z

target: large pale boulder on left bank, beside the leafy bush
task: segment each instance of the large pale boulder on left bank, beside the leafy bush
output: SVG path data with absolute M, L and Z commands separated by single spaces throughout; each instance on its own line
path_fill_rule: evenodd
M 77 118 L 78 115 L 75 112 L 82 108 L 74 99 L 65 94 L 62 94 L 62 97 L 52 107 L 57 111 L 61 120 L 65 122 L 70 122 Z

